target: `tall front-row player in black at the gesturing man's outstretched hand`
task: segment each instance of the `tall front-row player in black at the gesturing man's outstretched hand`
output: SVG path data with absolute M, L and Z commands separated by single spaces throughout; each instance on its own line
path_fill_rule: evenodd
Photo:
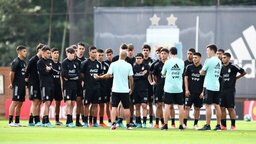
M 101 74 L 101 64 L 97 61 L 97 48 L 90 46 L 89 58 L 82 63 L 81 75 L 84 81 L 84 105 L 85 117 L 88 117 L 89 112 L 93 117 L 93 127 L 99 127 L 97 123 L 98 103 L 101 94 L 100 81 L 95 79 L 96 75 Z M 90 107 L 91 105 L 91 107 Z M 83 127 L 88 127 L 88 122 L 85 122 Z

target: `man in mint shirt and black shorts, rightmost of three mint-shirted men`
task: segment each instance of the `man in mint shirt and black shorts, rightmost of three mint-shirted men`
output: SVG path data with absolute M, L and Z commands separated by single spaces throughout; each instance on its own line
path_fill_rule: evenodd
M 217 115 L 217 125 L 214 130 L 221 130 L 220 118 L 221 110 L 219 105 L 219 91 L 220 91 L 220 72 L 221 61 L 216 56 L 217 46 L 214 44 L 207 46 L 208 59 L 205 60 L 200 75 L 205 75 L 204 79 L 204 103 L 206 109 L 206 124 L 199 130 L 211 130 L 211 117 L 212 117 L 212 105 L 214 105 Z

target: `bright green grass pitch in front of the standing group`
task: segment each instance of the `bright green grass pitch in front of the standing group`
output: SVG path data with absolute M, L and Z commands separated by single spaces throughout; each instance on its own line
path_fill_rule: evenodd
M 176 122 L 177 124 L 178 122 Z M 22 121 L 22 124 L 27 124 Z M 215 121 L 212 122 L 212 127 Z M 192 127 L 192 121 L 188 125 Z M 203 122 L 199 123 L 200 126 Z M 230 122 L 228 121 L 228 125 Z M 6 120 L 0 121 L 0 144 L 38 144 L 38 143 L 104 143 L 104 144 L 255 144 L 256 122 L 237 121 L 236 131 L 196 131 L 186 129 L 133 129 L 118 128 L 66 128 L 66 127 L 9 127 Z

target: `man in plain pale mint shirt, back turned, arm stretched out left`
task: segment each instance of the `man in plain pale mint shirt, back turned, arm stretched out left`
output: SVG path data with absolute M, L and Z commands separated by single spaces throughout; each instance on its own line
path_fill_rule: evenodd
M 121 102 L 124 107 L 124 113 L 126 117 L 126 127 L 127 129 L 132 129 L 130 124 L 130 110 L 129 110 L 129 95 L 133 91 L 133 70 L 132 66 L 125 61 L 127 57 L 126 51 L 120 52 L 120 59 L 116 62 L 113 62 L 108 70 L 108 73 L 99 78 L 109 78 L 111 75 L 113 77 L 113 87 L 112 87 L 112 111 L 111 111 L 111 120 L 112 126 L 111 129 L 116 129 L 116 112 L 117 106 Z M 128 86 L 129 85 L 129 86 Z

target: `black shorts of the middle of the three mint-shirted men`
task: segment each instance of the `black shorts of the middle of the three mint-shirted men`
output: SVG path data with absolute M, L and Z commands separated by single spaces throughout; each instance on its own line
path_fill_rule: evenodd
M 165 104 L 178 104 L 183 105 L 183 94 L 182 93 L 164 93 Z

